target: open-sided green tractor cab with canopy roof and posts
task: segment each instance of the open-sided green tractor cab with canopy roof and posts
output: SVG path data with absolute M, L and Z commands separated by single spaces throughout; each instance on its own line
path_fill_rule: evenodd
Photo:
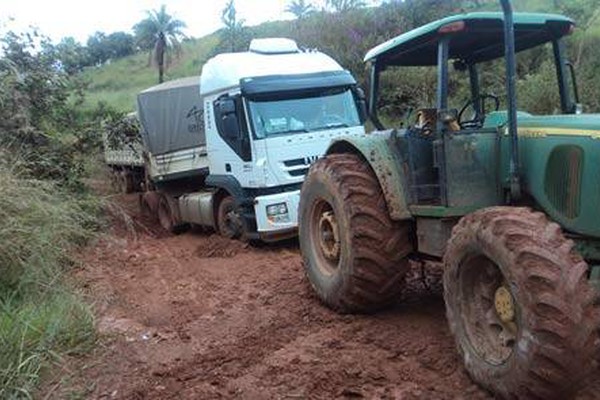
M 479 71 L 483 63 L 551 43 L 561 112 L 579 110 L 575 79 L 569 77 L 572 69 L 565 61 L 562 41 L 572 32 L 573 21 L 560 15 L 517 13 L 513 26 L 514 52 L 506 49 L 503 14 L 488 12 L 432 22 L 367 53 L 370 114 L 379 130 L 384 129 L 376 110 L 380 74 L 392 67 L 436 67 L 435 106 L 418 109 L 406 129 L 397 133 L 403 138 L 400 154 L 408 164 L 406 184 L 413 213 L 464 215 L 503 204 L 510 195 L 511 162 L 506 157 L 512 151 L 509 113 L 499 109 L 501 104 L 508 105 L 509 111 L 514 108 L 515 96 L 505 99 L 482 88 Z M 468 79 L 470 95 L 463 104 L 449 104 L 449 99 L 456 100 L 449 85 L 451 74 Z

